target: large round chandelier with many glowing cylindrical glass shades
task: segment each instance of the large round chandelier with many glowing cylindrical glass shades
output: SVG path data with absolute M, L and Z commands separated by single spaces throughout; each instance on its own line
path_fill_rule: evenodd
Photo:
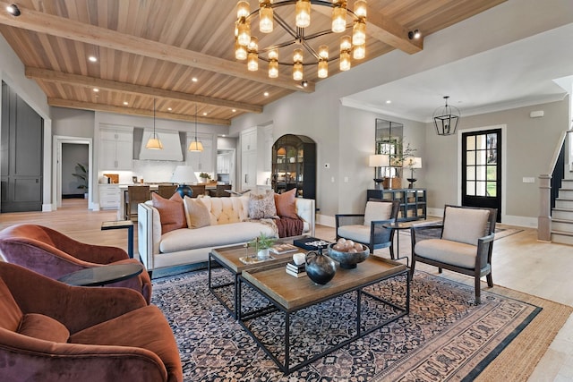
M 235 58 L 246 60 L 247 69 L 256 72 L 259 69 L 259 60 L 269 63 L 269 77 L 278 77 L 278 65 L 290 65 L 293 67 L 293 79 L 302 81 L 304 78 L 305 65 L 318 65 L 319 78 L 329 76 L 329 61 L 339 59 L 340 71 L 347 71 L 351 67 L 350 55 L 355 60 L 363 59 L 366 55 L 366 13 L 365 0 L 355 0 L 354 10 L 348 9 L 346 0 L 259 0 L 259 9 L 251 12 L 248 1 L 237 3 L 237 21 L 235 24 Z M 332 25 L 329 30 L 321 30 L 312 34 L 306 34 L 306 28 L 311 25 L 311 5 L 326 6 L 332 8 Z M 291 26 L 278 13 L 278 8 L 287 5 L 295 6 L 295 26 Z M 277 12 L 275 12 L 277 10 Z M 251 22 L 259 18 L 259 31 L 270 33 L 274 29 L 275 22 L 290 35 L 290 39 L 275 45 L 260 48 L 259 38 L 251 33 Z M 346 23 L 346 18 L 352 19 Z M 330 33 L 343 33 L 352 28 L 352 36 L 344 35 L 340 38 L 339 55 L 329 55 L 329 47 L 321 45 L 313 47 L 311 42 L 314 38 Z M 285 53 L 282 48 L 294 46 L 292 62 L 279 61 L 280 55 Z M 282 50 L 281 50 L 282 49 Z M 304 51 L 307 53 L 304 54 Z M 304 59 L 304 55 L 311 55 L 311 59 Z

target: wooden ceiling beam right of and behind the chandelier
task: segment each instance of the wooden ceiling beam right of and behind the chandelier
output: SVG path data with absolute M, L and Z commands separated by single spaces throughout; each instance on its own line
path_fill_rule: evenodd
M 328 17 L 332 14 L 331 8 L 326 6 L 317 6 L 317 12 Z M 368 7 L 368 16 L 366 18 L 366 33 L 381 42 L 388 44 L 390 47 L 400 49 L 407 54 L 415 54 L 423 50 L 423 39 L 408 38 L 408 31 L 403 25 L 390 19 L 380 12 L 375 12 Z

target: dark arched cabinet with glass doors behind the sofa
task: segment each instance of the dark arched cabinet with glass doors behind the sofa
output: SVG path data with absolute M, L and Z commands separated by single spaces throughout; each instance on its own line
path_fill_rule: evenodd
M 298 197 L 316 199 L 316 143 L 286 134 L 272 146 L 271 184 L 275 192 L 296 189 Z

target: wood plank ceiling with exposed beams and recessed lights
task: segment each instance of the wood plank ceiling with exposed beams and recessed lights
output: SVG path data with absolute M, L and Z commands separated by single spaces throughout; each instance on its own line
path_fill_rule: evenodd
M 409 39 L 409 30 L 428 36 L 503 1 L 368 0 L 361 62 L 395 48 L 415 54 L 423 49 L 423 38 Z M 252 11 L 258 7 L 256 0 L 250 3 Z M 199 122 L 228 125 L 294 91 L 312 92 L 321 80 L 316 65 L 304 66 L 309 86 L 303 88 L 292 79 L 292 66 L 280 65 L 278 79 L 269 79 L 266 62 L 249 72 L 235 60 L 236 0 L 19 0 L 18 17 L 5 11 L 9 4 L 0 1 L 0 32 L 50 106 L 150 116 L 156 98 L 159 118 L 193 121 L 196 105 Z M 353 4 L 348 1 L 349 8 Z M 329 12 L 313 4 L 311 27 L 329 29 Z M 252 34 L 260 47 L 289 38 L 277 26 L 261 36 L 257 23 L 255 18 Z M 339 37 L 321 37 L 331 57 L 338 56 Z M 98 61 L 91 63 L 90 55 Z M 329 77 L 337 72 L 333 60 Z

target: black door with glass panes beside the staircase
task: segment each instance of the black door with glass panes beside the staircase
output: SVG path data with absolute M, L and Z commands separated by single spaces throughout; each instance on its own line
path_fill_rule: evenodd
M 462 205 L 498 208 L 501 221 L 501 130 L 462 134 Z

